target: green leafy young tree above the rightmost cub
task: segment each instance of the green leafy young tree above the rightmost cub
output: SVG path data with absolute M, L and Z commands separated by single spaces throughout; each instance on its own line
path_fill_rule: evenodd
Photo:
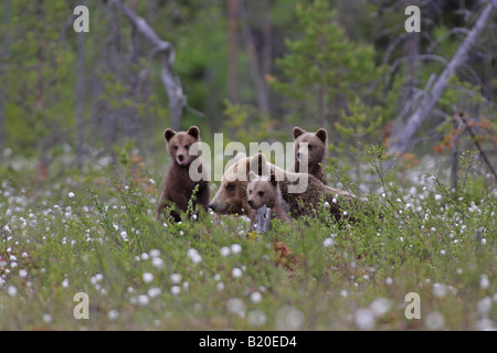
M 378 77 L 374 50 L 347 39 L 327 1 L 297 7 L 297 15 L 304 35 L 286 41 L 288 54 L 277 61 L 284 78 L 273 86 L 292 99 L 294 121 L 336 121 L 340 108 Z

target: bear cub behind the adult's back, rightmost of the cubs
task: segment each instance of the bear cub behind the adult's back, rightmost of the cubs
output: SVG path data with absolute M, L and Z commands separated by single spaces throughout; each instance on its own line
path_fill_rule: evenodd
M 319 129 L 316 132 L 306 132 L 299 127 L 294 128 L 295 163 L 294 172 L 302 172 L 302 164 L 307 162 L 307 173 L 326 184 L 326 175 L 322 171 L 326 150 L 328 149 L 328 132 Z M 307 142 L 300 146 L 300 142 Z

